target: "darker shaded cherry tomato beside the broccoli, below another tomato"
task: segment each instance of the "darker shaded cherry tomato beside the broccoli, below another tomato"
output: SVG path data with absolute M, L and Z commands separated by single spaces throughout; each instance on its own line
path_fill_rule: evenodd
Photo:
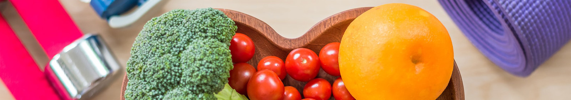
M 248 86 L 248 81 L 250 81 L 254 73 L 256 73 L 254 66 L 248 63 L 236 63 L 234 64 L 234 69 L 230 70 L 228 84 L 238 93 L 245 95 L 247 94 L 246 86 Z

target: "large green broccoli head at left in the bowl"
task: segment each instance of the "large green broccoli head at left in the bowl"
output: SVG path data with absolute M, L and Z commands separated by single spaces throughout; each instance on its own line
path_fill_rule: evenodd
M 172 10 L 148 21 L 127 61 L 130 99 L 216 99 L 232 69 L 237 27 L 212 8 Z

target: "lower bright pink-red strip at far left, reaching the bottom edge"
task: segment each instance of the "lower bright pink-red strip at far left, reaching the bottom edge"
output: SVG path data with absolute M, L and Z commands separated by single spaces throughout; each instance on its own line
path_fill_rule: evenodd
M 0 78 L 15 99 L 59 99 L 22 42 L 0 15 Z

